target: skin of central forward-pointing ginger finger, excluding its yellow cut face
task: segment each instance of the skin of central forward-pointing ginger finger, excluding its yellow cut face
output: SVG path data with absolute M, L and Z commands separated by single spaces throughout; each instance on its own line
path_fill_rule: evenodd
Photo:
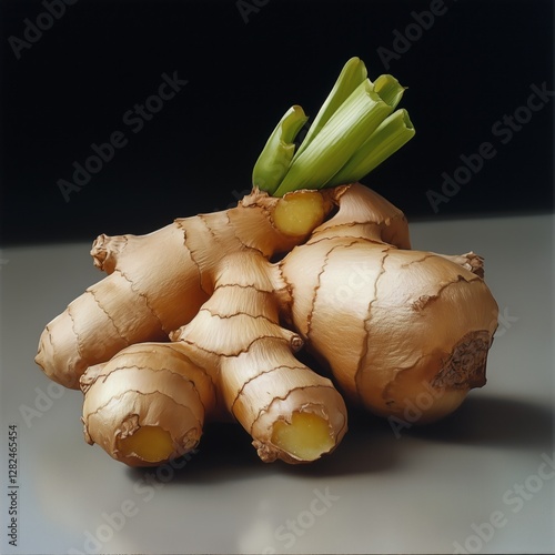
M 300 363 L 300 336 L 279 323 L 279 279 L 256 251 L 223 259 L 214 293 L 199 314 L 172 340 L 186 345 L 199 364 L 215 367 L 216 389 L 225 408 L 251 434 L 264 462 L 307 462 L 272 441 L 275 422 L 291 425 L 293 414 L 311 413 L 327 426 L 330 444 L 313 458 L 333 451 L 346 431 L 346 407 L 332 382 Z M 311 458 L 311 460 L 313 460 Z

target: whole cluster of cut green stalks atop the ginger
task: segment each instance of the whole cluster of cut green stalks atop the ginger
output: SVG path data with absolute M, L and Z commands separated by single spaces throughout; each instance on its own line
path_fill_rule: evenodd
M 295 152 L 307 118 L 291 108 L 268 140 L 253 169 L 253 185 L 274 196 L 361 180 L 412 137 L 406 110 L 396 109 L 405 88 L 389 74 L 374 83 L 351 58 Z

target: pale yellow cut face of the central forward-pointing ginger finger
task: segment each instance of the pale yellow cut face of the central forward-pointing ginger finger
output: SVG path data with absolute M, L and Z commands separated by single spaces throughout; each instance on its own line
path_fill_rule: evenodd
M 306 412 L 293 413 L 291 423 L 275 422 L 272 443 L 301 461 L 315 461 L 335 445 L 327 421 Z

